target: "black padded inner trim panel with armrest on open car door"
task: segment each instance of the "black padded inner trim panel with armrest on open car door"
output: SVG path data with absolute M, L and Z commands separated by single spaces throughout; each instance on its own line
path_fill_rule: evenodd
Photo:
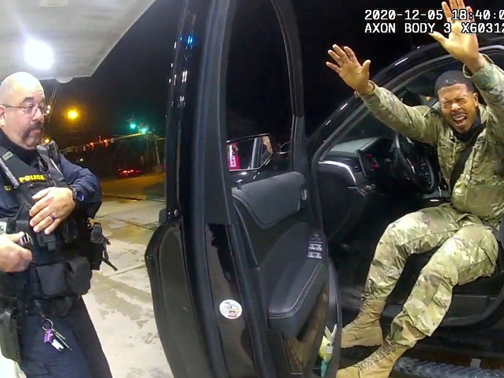
M 289 172 L 233 190 L 263 313 L 284 339 L 296 338 L 311 321 L 329 274 L 322 251 L 320 259 L 308 256 L 317 231 L 306 221 L 305 185 L 302 174 Z

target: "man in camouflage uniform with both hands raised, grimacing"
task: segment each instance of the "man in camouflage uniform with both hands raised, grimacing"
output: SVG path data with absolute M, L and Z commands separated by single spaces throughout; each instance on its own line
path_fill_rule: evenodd
M 479 53 L 474 34 L 461 33 L 451 9 L 463 0 L 443 3 L 452 25 L 449 38 L 431 34 L 463 64 L 462 73 L 448 72 L 436 81 L 440 112 L 404 105 L 385 88 L 369 81 L 369 64 L 353 51 L 334 45 L 327 65 L 353 88 L 369 110 L 397 132 L 437 148 L 447 182 L 460 152 L 477 137 L 473 151 L 454 185 L 451 204 L 408 214 L 388 226 L 376 246 L 357 318 L 342 331 L 342 348 L 381 345 L 364 361 L 338 371 L 337 378 L 386 378 L 395 361 L 418 340 L 431 336 L 450 306 L 455 285 L 490 276 L 498 242 L 492 233 L 504 212 L 504 72 Z M 473 12 L 467 7 L 468 12 Z M 471 20 L 470 22 L 474 22 Z M 478 103 L 474 85 L 487 106 Z M 479 133 L 479 135 L 478 135 Z M 490 227 L 491 226 L 491 227 Z M 436 249 L 383 340 L 380 315 L 412 254 Z

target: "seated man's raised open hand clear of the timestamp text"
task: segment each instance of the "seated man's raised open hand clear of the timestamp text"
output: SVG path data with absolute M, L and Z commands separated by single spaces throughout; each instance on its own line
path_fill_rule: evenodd
M 369 83 L 370 60 L 366 60 L 362 65 L 359 63 L 350 47 L 342 49 L 338 45 L 333 45 L 334 50 L 329 50 L 329 55 L 337 64 L 326 62 L 327 67 L 336 71 L 343 81 L 353 90 L 366 94 L 372 91 Z

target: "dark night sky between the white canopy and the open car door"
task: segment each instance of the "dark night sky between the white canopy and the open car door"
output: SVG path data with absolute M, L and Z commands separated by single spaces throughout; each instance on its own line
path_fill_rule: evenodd
M 60 147 L 130 134 L 133 114 L 162 135 L 179 12 L 176 2 L 155 2 L 92 77 L 59 84 L 46 134 Z M 44 87 L 49 97 L 55 82 Z M 80 110 L 76 121 L 65 117 L 71 107 Z

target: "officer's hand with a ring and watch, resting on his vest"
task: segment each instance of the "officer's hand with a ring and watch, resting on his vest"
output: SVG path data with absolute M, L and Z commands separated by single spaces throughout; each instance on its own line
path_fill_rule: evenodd
M 72 191 L 67 187 L 49 187 L 38 192 L 33 199 L 37 201 L 30 210 L 30 226 L 33 231 L 48 235 L 56 229 L 75 209 Z

